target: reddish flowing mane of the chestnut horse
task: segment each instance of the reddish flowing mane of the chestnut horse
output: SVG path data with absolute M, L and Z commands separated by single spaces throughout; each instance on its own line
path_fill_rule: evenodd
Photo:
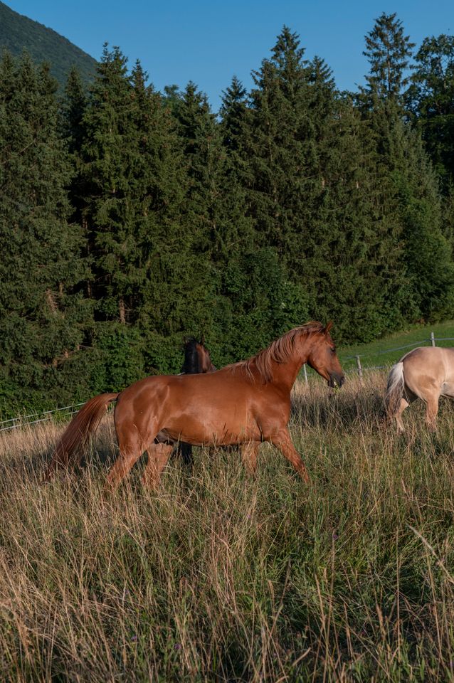
M 324 325 L 321 322 L 307 322 L 300 327 L 294 327 L 289 332 L 285 332 L 282 337 L 275 339 L 267 349 L 259 351 L 247 361 L 240 361 L 227 366 L 232 372 L 243 371 L 250 382 L 254 382 L 257 376 L 268 383 L 273 381 L 273 362 L 285 363 L 290 359 L 295 349 L 296 340 L 302 334 L 317 334 L 322 332 Z

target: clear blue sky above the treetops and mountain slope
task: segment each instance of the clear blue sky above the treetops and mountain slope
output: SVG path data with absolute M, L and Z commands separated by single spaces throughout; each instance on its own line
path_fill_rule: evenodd
M 417 46 L 426 36 L 454 33 L 454 0 L 6 0 L 100 58 L 105 41 L 130 65 L 139 58 L 162 90 L 193 80 L 213 110 L 233 75 L 250 88 L 251 70 L 268 57 L 284 24 L 300 35 L 307 58 L 329 64 L 339 88 L 364 83 L 364 36 L 374 19 L 396 12 Z

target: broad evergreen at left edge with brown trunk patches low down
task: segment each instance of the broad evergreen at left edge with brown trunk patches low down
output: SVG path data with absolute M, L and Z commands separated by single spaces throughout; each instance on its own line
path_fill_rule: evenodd
M 70 164 L 56 83 L 28 55 L 0 62 L 0 392 L 61 400 L 81 390 L 79 345 L 90 310 L 82 236 L 68 226 Z M 72 374 L 72 371 L 75 373 Z M 80 394 L 79 394 L 80 395 Z

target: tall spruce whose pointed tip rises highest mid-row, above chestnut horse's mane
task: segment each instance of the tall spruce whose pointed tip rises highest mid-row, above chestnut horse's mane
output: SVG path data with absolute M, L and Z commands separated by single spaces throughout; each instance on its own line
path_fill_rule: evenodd
M 298 275 L 312 202 L 320 191 L 310 70 L 303 55 L 297 35 L 284 27 L 272 57 L 253 73 L 242 143 L 247 206 L 258 242 L 273 246 Z

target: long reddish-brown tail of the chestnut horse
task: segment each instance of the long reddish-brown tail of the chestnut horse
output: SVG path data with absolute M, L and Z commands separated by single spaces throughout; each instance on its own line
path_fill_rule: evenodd
M 49 481 L 58 467 L 67 467 L 70 459 L 75 457 L 80 448 L 83 448 L 90 434 L 93 434 L 107 411 L 109 403 L 116 401 L 119 393 L 100 393 L 99 396 L 90 398 L 77 415 L 70 421 L 63 435 L 58 440 L 52 460 L 44 475 L 44 480 Z

